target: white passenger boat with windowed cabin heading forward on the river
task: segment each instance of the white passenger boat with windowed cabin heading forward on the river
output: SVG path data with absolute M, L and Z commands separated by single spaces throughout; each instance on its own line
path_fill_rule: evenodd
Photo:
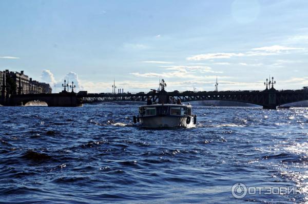
M 139 115 L 133 116 L 134 123 L 146 128 L 193 128 L 197 116 L 191 114 L 191 105 L 155 104 L 139 107 Z

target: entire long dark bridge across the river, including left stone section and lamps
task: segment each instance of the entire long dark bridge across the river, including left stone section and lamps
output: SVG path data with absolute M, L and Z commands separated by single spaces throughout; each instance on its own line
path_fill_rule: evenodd
M 163 81 L 163 80 L 162 80 Z M 276 83 L 274 81 L 274 83 Z M 267 83 L 263 91 L 184 91 L 166 92 L 164 85 L 161 85 L 161 91 L 152 90 L 149 93 L 87 93 L 67 92 L 66 90 L 56 94 L 6 94 L 3 86 L 0 104 L 4 106 L 21 106 L 29 101 L 45 101 L 48 106 L 76 107 L 82 104 L 99 103 L 107 101 L 147 101 L 149 97 L 153 103 L 168 103 L 169 97 L 180 98 L 182 102 L 200 101 L 200 100 L 226 100 L 238 101 L 248 104 L 262 106 L 263 109 L 276 109 L 277 106 L 308 100 L 308 88 L 301 90 L 276 90 L 271 80 Z M 218 84 L 216 83 L 216 86 Z M 271 88 L 272 86 L 272 88 Z

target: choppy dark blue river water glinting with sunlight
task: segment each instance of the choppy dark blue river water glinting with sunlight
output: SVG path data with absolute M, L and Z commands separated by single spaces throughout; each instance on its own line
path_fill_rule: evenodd
M 307 201 L 307 109 L 195 106 L 197 128 L 155 130 L 137 107 L 0 107 L 0 202 Z M 236 182 L 303 194 L 236 199 Z

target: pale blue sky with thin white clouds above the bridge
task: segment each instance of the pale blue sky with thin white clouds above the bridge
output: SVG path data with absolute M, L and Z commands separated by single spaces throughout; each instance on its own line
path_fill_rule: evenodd
M 308 1 L 4 1 L 0 70 L 61 91 L 308 86 Z M 54 87 L 55 86 L 55 87 Z

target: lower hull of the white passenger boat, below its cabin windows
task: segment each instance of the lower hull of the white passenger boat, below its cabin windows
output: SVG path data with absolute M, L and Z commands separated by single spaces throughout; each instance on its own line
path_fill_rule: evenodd
M 187 116 L 176 117 L 176 116 L 150 116 L 140 117 L 140 124 L 146 128 L 194 128 L 194 117 L 190 116 L 190 123 L 187 122 Z

